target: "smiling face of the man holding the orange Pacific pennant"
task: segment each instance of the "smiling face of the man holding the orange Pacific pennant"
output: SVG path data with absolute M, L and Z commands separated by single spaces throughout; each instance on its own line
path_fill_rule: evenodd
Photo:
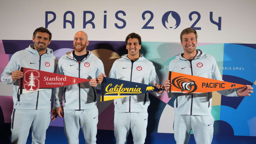
M 196 55 L 197 39 L 194 33 L 183 34 L 181 45 L 183 46 L 184 54 Z

